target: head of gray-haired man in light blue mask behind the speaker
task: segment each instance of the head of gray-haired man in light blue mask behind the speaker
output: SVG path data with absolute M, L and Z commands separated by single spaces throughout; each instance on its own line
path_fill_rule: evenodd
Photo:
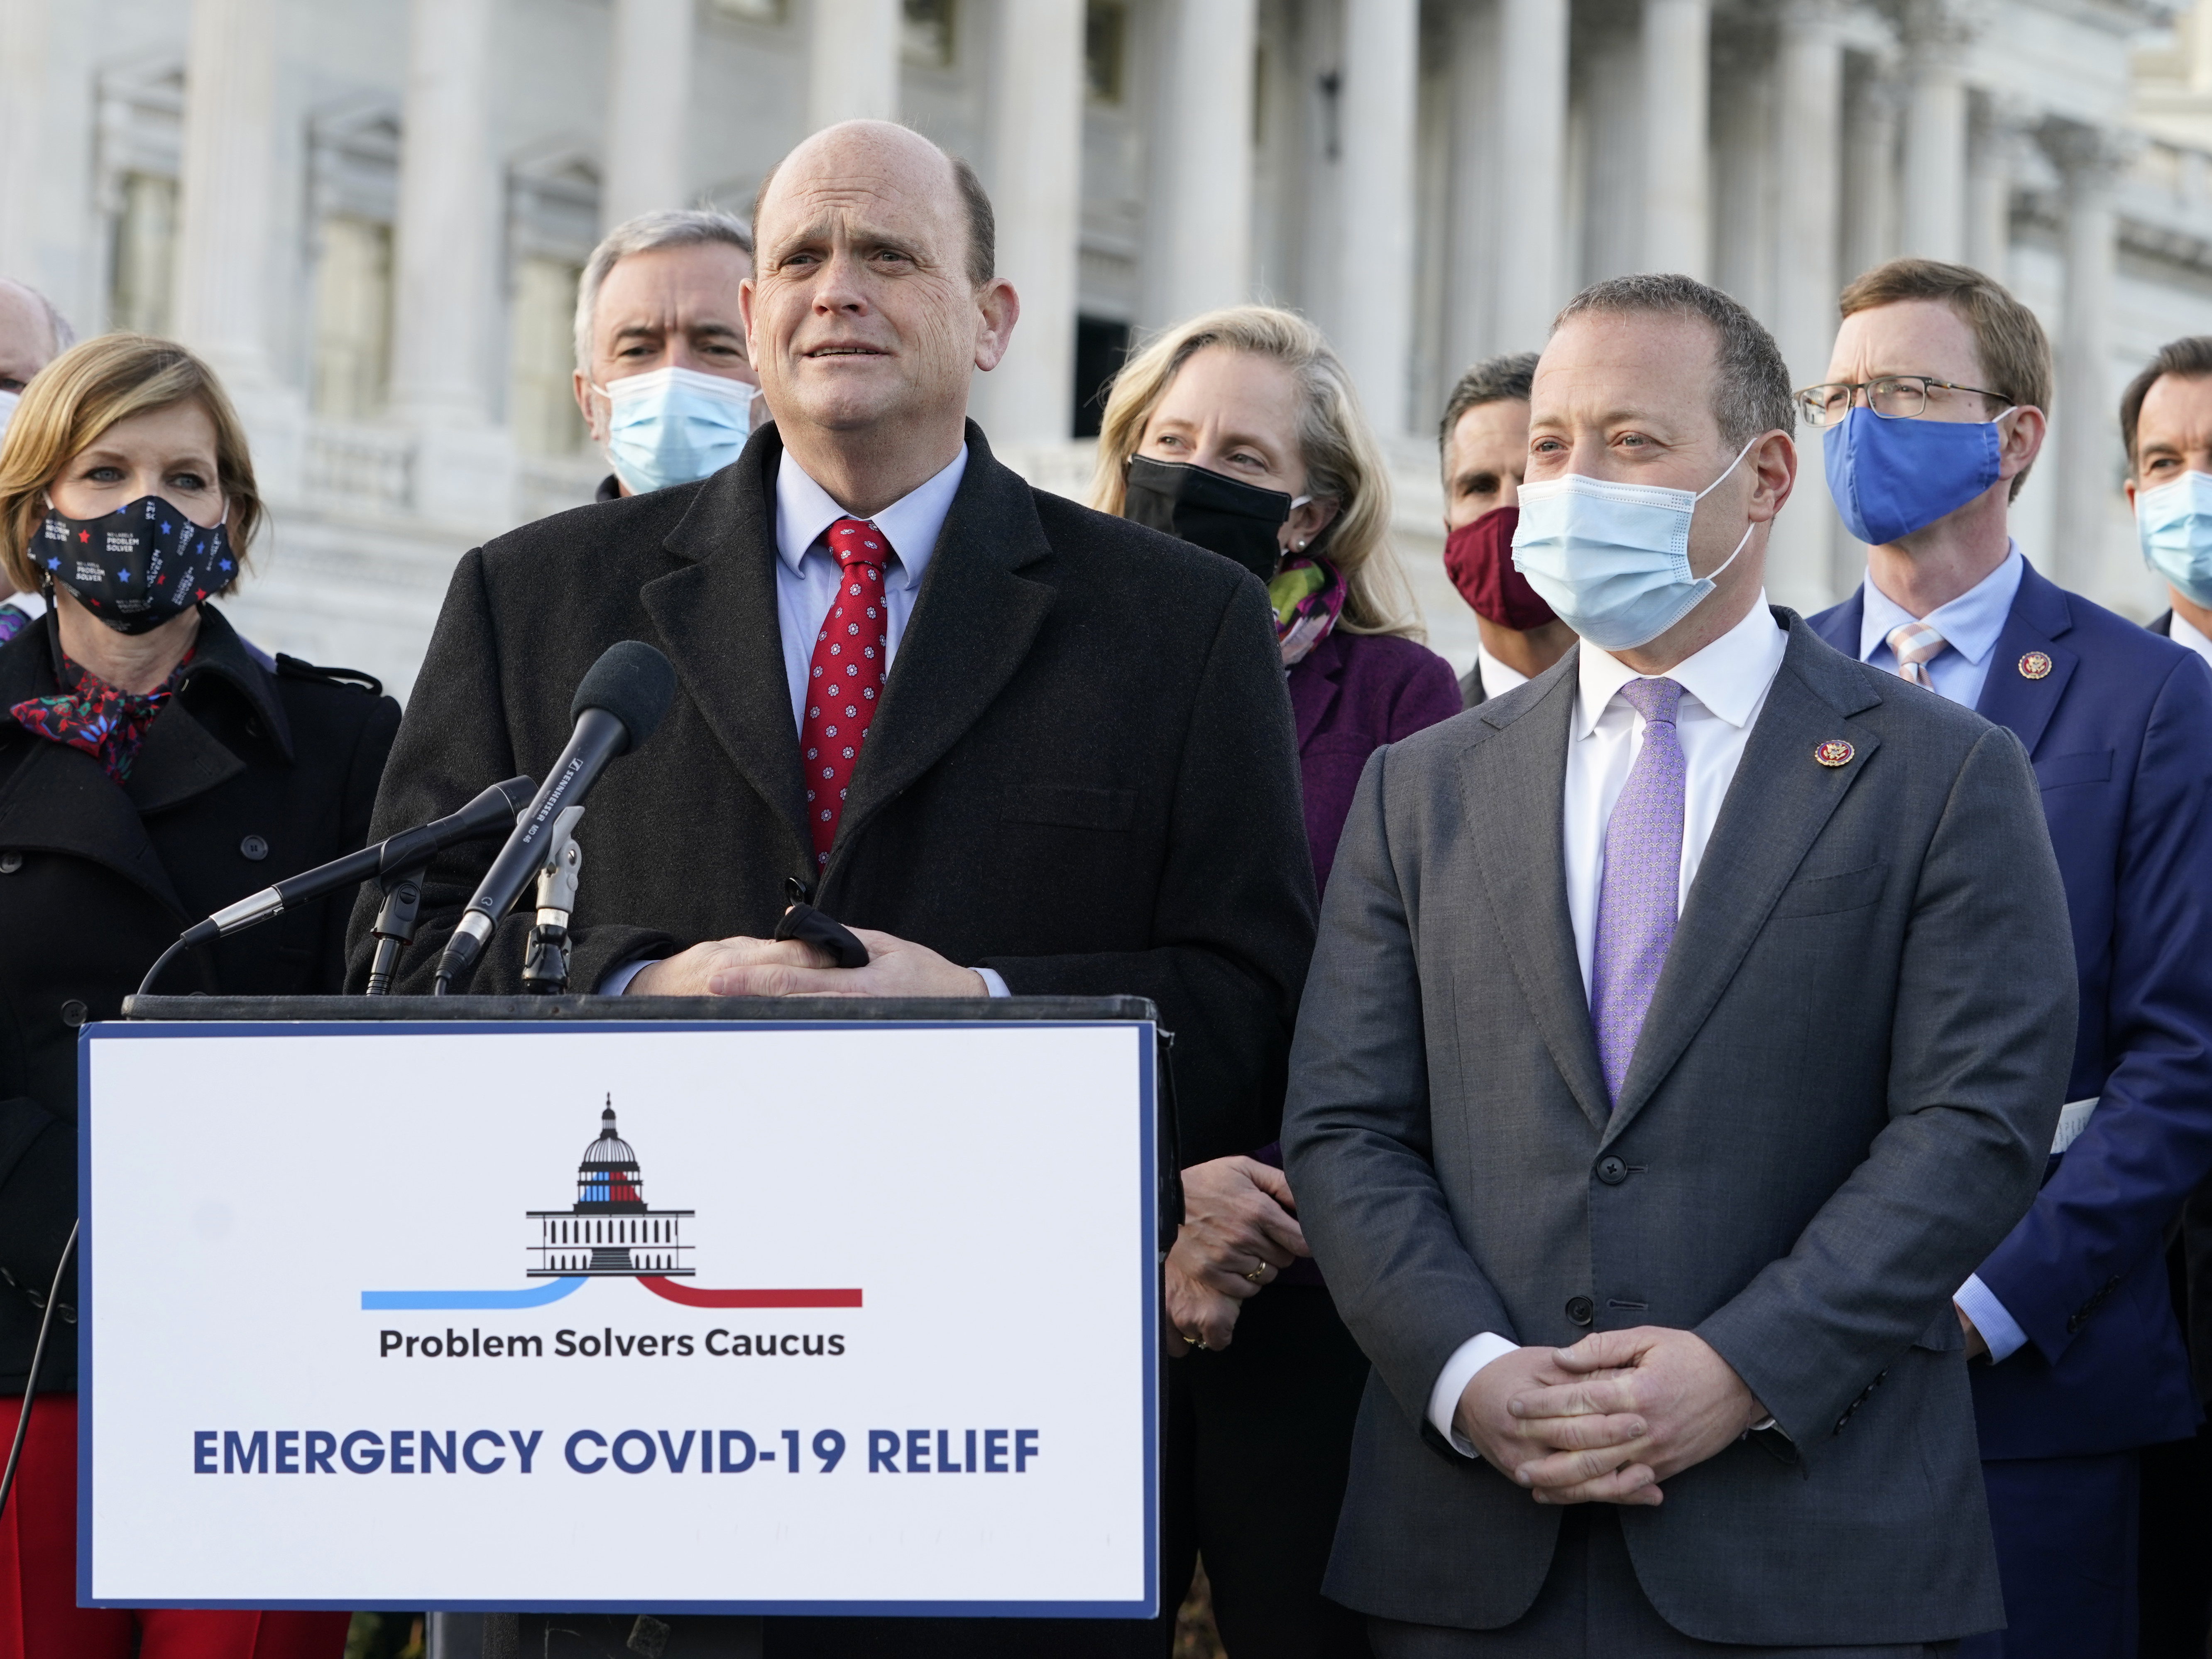
M 599 500 L 690 484 L 737 460 L 761 380 L 737 290 L 745 221 L 657 208 L 599 239 L 575 294 L 575 407 L 615 469 Z

